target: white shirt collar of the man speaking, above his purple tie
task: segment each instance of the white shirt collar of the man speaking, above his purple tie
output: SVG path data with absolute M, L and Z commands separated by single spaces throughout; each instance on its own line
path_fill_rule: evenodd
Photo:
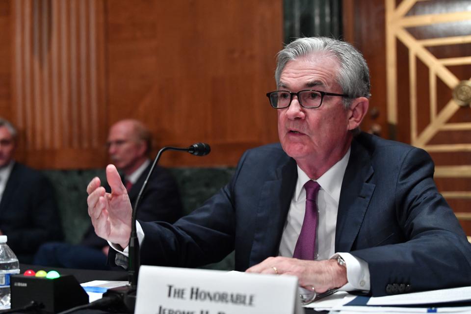
M 340 189 L 342 187 L 343 176 L 347 168 L 348 159 L 350 158 L 350 148 L 345 155 L 337 161 L 329 170 L 327 170 L 322 176 L 320 176 L 316 182 L 319 183 L 320 188 L 326 191 L 334 200 L 339 203 L 340 200 Z M 308 182 L 308 175 L 297 166 L 298 169 L 298 180 L 296 181 L 296 189 L 294 191 L 294 201 L 300 200 L 301 193 L 304 191 L 304 184 Z

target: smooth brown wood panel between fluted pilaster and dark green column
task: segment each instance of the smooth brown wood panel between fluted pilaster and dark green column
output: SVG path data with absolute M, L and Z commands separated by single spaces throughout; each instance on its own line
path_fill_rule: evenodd
M 245 149 L 277 141 L 265 93 L 275 88 L 281 1 L 108 1 L 106 8 L 110 123 L 144 121 L 156 147 L 213 147 L 205 158 L 162 158 L 169 166 L 235 165 Z

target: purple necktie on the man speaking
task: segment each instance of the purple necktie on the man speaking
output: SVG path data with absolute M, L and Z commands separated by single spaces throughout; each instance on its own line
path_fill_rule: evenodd
M 300 260 L 315 260 L 315 232 L 317 229 L 317 205 L 315 199 L 320 185 L 309 180 L 304 184 L 306 189 L 306 212 L 304 214 L 303 227 L 299 233 L 293 258 Z

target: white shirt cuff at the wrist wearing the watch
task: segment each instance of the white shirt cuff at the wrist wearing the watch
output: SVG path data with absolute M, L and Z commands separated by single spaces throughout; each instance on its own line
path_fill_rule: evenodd
M 339 291 L 362 290 L 369 291 L 369 268 L 368 263 L 362 259 L 356 258 L 350 253 L 336 253 L 331 259 L 341 257 L 345 261 L 347 268 L 347 283 L 338 288 Z

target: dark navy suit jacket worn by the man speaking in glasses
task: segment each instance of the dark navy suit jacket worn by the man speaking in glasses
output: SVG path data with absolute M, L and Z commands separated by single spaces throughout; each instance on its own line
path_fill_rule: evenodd
M 340 192 L 336 252 L 368 263 L 371 293 L 471 284 L 471 245 L 433 181 L 429 155 L 361 133 Z M 297 179 L 280 144 L 247 151 L 230 183 L 174 225 L 140 222 L 141 263 L 195 267 L 235 250 L 243 271 L 277 256 Z M 391 292 L 391 291 L 388 291 Z

